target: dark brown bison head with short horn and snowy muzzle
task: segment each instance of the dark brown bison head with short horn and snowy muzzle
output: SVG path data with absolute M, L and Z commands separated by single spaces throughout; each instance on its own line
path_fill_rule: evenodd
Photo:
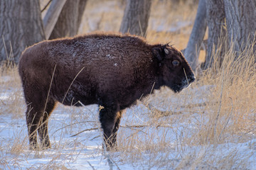
M 185 57 L 175 47 L 162 45 L 154 47 L 152 52 L 159 62 L 160 86 L 168 86 L 174 92 L 180 92 L 195 80 Z

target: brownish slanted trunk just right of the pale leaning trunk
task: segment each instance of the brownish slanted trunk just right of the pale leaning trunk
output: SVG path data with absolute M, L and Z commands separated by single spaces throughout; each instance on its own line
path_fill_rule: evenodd
M 85 11 L 86 3 L 87 0 L 66 1 L 49 39 L 76 35 L 82 20 L 82 13 Z

